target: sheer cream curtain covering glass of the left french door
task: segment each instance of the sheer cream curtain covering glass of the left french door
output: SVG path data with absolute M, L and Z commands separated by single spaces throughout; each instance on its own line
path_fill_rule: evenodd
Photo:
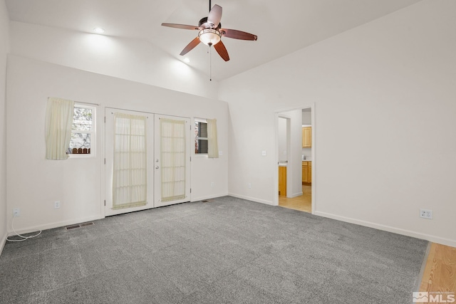
M 115 113 L 113 209 L 147 204 L 146 117 Z

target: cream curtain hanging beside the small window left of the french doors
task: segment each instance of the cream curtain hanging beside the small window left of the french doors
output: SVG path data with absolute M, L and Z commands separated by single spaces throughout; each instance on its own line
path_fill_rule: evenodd
M 68 159 L 74 101 L 48 98 L 46 105 L 46 159 Z

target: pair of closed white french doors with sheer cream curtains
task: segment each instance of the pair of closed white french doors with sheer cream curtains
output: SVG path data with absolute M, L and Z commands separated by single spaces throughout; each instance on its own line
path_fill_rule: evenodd
M 190 201 L 190 118 L 105 109 L 105 216 Z

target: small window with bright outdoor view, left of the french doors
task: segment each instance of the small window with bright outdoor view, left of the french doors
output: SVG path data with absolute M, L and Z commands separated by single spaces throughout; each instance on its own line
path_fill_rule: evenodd
M 88 105 L 74 105 L 73 126 L 68 154 L 94 155 L 95 108 Z

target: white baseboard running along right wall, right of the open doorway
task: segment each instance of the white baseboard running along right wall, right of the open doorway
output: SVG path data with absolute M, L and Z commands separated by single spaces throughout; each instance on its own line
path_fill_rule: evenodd
M 329 213 L 321 212 L 321 211 L 315 211 L 314 214 L 318 215 L 318 216 L 327 217 L 329 219 L 336 219 L 338 221 L 346 221 L 347 223 L 351 223 L 351 224 L 358 224 L 361 226 L 367 226 L 367 227 L 375 228 L 378 230 L 393 232 L 395 234 L 402 234 L 404 236 L 412 236 L 413 238 L 423 239 L 426 241 L 431 241 L 433 243 L 440 243 L 442 245 L 456 247 L 456 240 L 445 239 L 445 238 L 441 238 L 439 236 L 432 236 L 430 234 L 421 234 L 419 232 L 410 231 L 407 229 L 400 229 L 400 228 L 395 228 L 393 226 L 376 224 L 371 221 L 361 221 L 359 219 L 352 219 L 349 217 L 338 216 L 336 214 L 329 214 Z

